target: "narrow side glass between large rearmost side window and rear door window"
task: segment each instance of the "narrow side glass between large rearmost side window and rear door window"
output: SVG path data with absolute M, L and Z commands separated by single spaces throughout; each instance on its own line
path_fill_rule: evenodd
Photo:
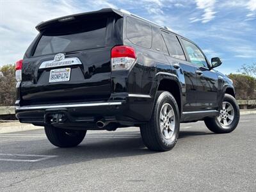
M 166 45 L 164 44 L 163 36 L 160 33 L 159 28 L 152 27 L 152 32 L 153 32 L 153 40 L 152 40 L 152 49 L 154 51 L 161 51 L 164 54 L 168 54 Z

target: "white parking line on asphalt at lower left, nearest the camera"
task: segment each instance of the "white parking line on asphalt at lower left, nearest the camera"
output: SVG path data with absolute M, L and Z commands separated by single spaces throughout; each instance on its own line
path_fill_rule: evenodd
M 18 162 L 38 162 L 52 157 L 58 156 L 43 156 L 43 155 L 24 155 L 24 154 L 0 154 L 1 156 L 8 156 L 8 158 L 0 158 L 0 161 L 18 161 Z M 15 159 L 15 157 L 38 157 L 38 159 Z

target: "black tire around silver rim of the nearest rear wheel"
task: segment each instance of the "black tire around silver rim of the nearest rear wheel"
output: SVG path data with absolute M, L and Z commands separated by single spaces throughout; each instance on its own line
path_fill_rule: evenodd
M 163 109 L 165 104 L 170 104 L 170 106 L 172 106 L 172 110 L 174 113 L 173 120 L 175 120 L 173 124 L 174 131 L 172 132 L 172 136 L 170 136 L 170 138 L 168 139 L 164 137 L 163 131 L 161 132 L 161 120 L 159 119 L 161 109 Z M 177 143 L 177 139 L 179 137 L 179 116 L 179 108 L 173 95 L 169 92 L 157 92 L 152 117 L 147 124 L 142 124 L 140 126 L 141 138 L 146 147 L 154 151 L 171 150 Z

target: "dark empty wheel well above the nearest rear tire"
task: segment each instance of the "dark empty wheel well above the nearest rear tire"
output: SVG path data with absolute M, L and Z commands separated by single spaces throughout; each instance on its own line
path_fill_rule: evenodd
M 170 79 L 163 79 L 160 81 L 158 85 L 157 91 L 166 91 L 172 93 L 173 97 L 175 98 L 178 107 L 179 112 L 181 113 L 181 104 L 180 104 L 180 88 L 176 81 L 170 80 Z

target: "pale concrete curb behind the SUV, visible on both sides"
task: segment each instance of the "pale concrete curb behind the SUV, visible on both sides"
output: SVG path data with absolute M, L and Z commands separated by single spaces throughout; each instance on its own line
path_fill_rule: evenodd
M 256 109 L 240 109 L 240 115 L 256 114 Z M 8 132 L 22 132 L 36 129 L 44 129 L 44 127 L 32 124 L 20 124 L 19 121 L 0 121 L 0 134 Z

